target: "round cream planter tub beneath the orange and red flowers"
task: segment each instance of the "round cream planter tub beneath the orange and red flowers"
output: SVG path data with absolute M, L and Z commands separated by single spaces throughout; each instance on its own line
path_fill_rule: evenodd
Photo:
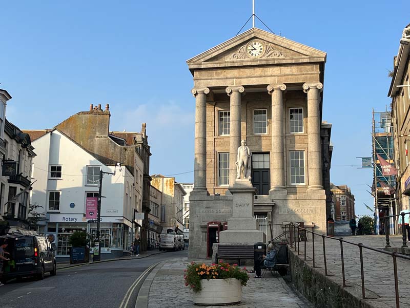
M 227 305 L 242 300 L 242 285 L 236 278 L 202 279 L 201 286 L 202 290 L 193 294 L 196 305 Z

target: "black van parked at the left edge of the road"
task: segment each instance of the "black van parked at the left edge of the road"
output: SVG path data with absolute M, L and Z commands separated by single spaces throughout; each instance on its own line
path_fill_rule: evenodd
M 2 283 L 12 278 L 21 279 L 23 277 L 34 276 L 37 279 L 44 279 L 44 275 L 57 274 L 57 266 L 49 240 L 38 235 L 24 235 L 21 233 L 7 236 L 0 236 L 0 242 L 6 241 L 8 246 L 5 251 L 10 260 L 3 261 L 3 275 L 0 277 Z

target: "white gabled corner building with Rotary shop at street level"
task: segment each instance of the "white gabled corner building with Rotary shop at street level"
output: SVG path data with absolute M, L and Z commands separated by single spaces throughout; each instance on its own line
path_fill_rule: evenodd
M 86 217 L 86 207 L 87 198 L 98 197 L 100 168 L 104 172 L 115 171 L 115 175 L 103 177 L 102 258 L 128 254 L 133 239 L 134 212 L 141 211 L 141 177 L 134 177 L 129 166 L 115 168 L 101 163 L 57 129 L 45 132 L 33 141 L 33 146 L 37 157 L 33 160 L 33 179 L 36 182 L 33 184 L 32 202 L 44 207 L 47 222 L 39 227 L 40 232 L 54 239 L 57 257 L 69 256 L 68 240 L 75 230 L 91 235 L 96 233 L 96 220 Z M 134 174 L 142 175 L 142 167 L 140 160 L 135 159 Z

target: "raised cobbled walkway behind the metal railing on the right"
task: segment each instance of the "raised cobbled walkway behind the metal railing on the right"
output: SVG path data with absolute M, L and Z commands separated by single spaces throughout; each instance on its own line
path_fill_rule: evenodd
M 362 243 L 375 248 L 385 245 L 384 236 L 348 236 L 344 240 Z M 333 280 L 342 284 L 342 269 L 340 259 L 340 242 L 325 239 L 327 272 Z M 391 245 L 401 246 L 401 236 L 391 236 Z M 293 249 L 294 250 L 294 249 Z M 304 242 L 299 243 L 300 258 L 303 259 Z M 297 252 L 296 252 L 297 253 Z M 345 266 L 345 280 L 347 288 L 360 290 L 361 272 L 359 247 L 343 243 Z M 306 260 L 313 265 L 312 241 L 306 242 Z M 315 266 L 324 273 L 322 238 L 315 237 Z M 363 248 L 363 271 L 366 302 L 376 307 L 396 307 L 393 258 L 389 255 L 373 252 Z M 400 307 L 410 307 L 410 260 L 397 258 L 397 272 L 399 282 Z M 357 286 L 360 286 L 358 289 Z

